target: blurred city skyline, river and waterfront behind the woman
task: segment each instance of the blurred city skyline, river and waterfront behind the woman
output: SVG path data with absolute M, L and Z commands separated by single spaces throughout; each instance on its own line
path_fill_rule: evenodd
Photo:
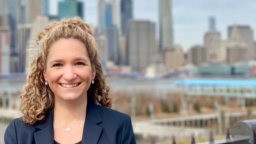
M 112 109 L 139 144 L 223 139 L 256 118 L 255 0 L 0 0 L 0 144 L 41 49 L 37 33 L 79 16 L 93 30 Z M 41 45 L 41 43 L 39 43 Z

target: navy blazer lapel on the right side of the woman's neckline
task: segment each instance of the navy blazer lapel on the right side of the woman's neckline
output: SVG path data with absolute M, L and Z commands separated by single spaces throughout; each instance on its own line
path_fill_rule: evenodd
M 83 128 L 82 144 L 97 144 L 102 132 L 100 123 L 101 115 L 98 106 L 91 100 L 87 100 L 86 119 Z

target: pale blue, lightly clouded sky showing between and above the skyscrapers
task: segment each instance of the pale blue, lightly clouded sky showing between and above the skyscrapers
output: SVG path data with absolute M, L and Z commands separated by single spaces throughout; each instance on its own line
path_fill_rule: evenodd
M 57 15 L 57 3 L 50 0 L 50 14 Z M 97 0 L 85 2 L 85 21 L 97 26 Z M 159 37 L 159 0 L 133 0 L 134 19 L 150 20 L 156 24 L 156 38 Z M 227 27 L 236 23 L 249 25 L 256 41 L 256 0 L 173 0 L 174 43 L 187 51 L 193 45 L 203 45 L 204 33 L 208 31 L 208 18 L 214 16 L 216 29 L 221 38 L 227 39 Z M 117 0 L 119 14 L 120 0 Z M 118 15 L 118 20 L 120 20 Z

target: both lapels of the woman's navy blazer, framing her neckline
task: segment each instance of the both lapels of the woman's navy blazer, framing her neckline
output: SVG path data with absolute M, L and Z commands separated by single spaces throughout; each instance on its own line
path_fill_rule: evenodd
M 97 144 L 102 132 L 102 128 L 98 126 L 102 122 L 101 114 L 98 106 L 87 100 L 86 119 L 83 127 L 82 144 Z M 53 111 L 46 114 L 46 119 L 39 122 L 36 126 L 39 130 L 34 133 L 36 144 L 53 144 Z

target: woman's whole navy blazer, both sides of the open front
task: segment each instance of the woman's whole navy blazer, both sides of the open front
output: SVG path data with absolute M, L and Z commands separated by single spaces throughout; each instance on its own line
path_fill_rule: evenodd
M 53 144 L 53 115 L 34 125 L 16 118 L 5 130 L 5 144 Z M 82 144 L 136 144 L 131 117 L 87 101 Z

